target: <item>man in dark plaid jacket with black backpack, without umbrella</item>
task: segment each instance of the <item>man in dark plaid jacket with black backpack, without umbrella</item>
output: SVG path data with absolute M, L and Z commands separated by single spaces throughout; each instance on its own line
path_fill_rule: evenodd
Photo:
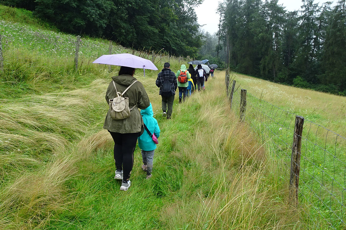
M 163 116 L 166 116 L 167 119 L 171 119 L 177 82 L 175 73 L 170 69 L 170 63 L 166 62 L 163 67 L 161 72 L 157 74 L 155 83 L 156 86 L 160 88 L 158 94 L 162 97 Z

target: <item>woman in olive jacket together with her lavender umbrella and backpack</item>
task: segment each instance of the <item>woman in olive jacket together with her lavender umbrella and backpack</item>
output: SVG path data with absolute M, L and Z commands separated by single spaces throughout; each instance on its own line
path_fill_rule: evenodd
M 109 110 L 103 128 L 114 141 L 115 179 L 121 180 L 120 190 L 131 186 L 130 174 L 134 163 L 137 138 L 143 133 L 143 119 L 139 109 L 150 105 L 149 97 L 141 82 L 134 78 L 135 68 L 157 70 L 155 65 L 132 54 L 103 55 L 93 63 L 121 66 L 118 76 L 112 77 L 106 92 Z

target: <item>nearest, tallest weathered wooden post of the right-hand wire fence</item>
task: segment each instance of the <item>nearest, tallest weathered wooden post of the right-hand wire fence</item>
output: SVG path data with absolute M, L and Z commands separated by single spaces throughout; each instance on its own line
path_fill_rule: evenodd
M 290 199 L 297 206 L 298 204 L 298 187 L 300 171 L 300 151 L 302 144 L 304 118 L 295 116 L 292 155 L 291 155 L 291 173 L 290 173 Z

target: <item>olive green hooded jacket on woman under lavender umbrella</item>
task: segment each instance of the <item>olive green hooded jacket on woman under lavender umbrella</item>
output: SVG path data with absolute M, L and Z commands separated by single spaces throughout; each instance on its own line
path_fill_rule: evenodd
M 137 79 L 131 75 L 120 75 L 112 77 L 117 87 L 118 92 L 123 92 L 131 83 Z M 115 98 L 117 95 L 113 83 L 110 82 L 106 92 L 106 101 L 108 104 L 109 99 Z M 131 111 L 130 117 L 124 120 L 114 120 L 110 117 L 110 112 L 108 110 L 106 119 L 104 120 L 103 128 L 111 132 L 118 133 L 136 133 L 141 131 L 143 124 L 142 116 L 140 115 L 139 109 L 146 109 L 149 104 L 149 97 L 144 89 L 141 82 L 135 82 L 122 97 L 129 98 L 129 107 L 132 108 L 137 104 L 137 106 Z

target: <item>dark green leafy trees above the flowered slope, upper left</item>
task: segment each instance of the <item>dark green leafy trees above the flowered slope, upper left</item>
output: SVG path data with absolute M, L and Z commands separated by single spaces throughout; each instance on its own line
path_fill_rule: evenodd
M 195 57 L 202 45 L 194 8 L 202 0 L 2 0 L 65 32 L 134 49 Z

